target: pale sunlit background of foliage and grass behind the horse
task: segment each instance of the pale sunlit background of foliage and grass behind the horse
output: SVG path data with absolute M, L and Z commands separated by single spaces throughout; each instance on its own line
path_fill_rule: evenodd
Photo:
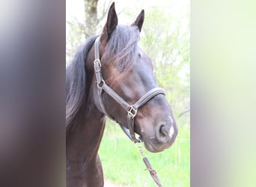
M 81 0 L 82 1 L 82 0 Z M 86 1 L 86 0 L 85 0 Z M 96 1 L 96 0 L 95 0 Z M 97 25 L 92 34 L 100 34 L 106 22 L 111 1 L 99 0 Z M 135 1 L 129 4 L 115 1 L 118 22 L 130 24 L 145 10 L 139 45 L 150 56 L 156 81 L 166 91 L 166 97 L 177 120 L 179 133 L 173 146 L 162 153 L 148 153 L 163 186 L 189 186 L 190 181 L 190 32 L 189 1 Z M 88 7 L 87 7 L 88 10 Z M 105 14 L 105 15 L 104 15 Z M 90 19 L 85 11 L 85 20 Z M 85 21 L 76 16 L 67 17 L 66 64 L 88 36 Z M 156 186 L 144 171 L 144 162 L 137 146 L 124 135 L 117 124 L 107 121 L 100 145 L 104 176 L 118 186 Z

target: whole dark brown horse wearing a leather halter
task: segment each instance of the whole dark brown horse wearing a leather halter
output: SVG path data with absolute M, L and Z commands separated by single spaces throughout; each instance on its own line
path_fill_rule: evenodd
M 118 25 L 113 3 L 100 36 L 88 39 L 67 67 L 67 186 L 104 185 L 98 150 L 106 115 L 150 152 L 174 143 L 177 124 L 171 107 L 150 58 L 138 47 L 143 22 L 144 10 L 132 25 Z

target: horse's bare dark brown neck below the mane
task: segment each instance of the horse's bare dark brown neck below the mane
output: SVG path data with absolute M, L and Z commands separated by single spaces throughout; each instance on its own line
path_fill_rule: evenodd
M 90 96 L 92 97 L 92 96 Z M 91 98 L 88 99 L 90 102 Z M 103 186 L 103 170 L 98 156 L 105 117 L 89 103 L 66 138 L 67 187 Z

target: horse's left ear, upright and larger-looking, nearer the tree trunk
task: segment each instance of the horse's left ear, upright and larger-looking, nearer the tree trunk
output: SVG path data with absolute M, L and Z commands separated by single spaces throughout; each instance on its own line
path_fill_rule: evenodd
M 103 32 L 100 35 L 100 41 L 102 43 L 105 43 L 105 44 L 107 43 L 107 41 L 111 37 L 112 32 L 115 30 L 117 25 L 118 25 L 118 15 L 115 12 L 115 2 L 113 2 L 109 7 L 108 19 L 103 28 Z

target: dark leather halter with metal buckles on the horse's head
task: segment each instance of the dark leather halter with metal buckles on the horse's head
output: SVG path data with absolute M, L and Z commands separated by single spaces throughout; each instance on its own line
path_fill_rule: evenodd
M 162 88 L 153 88 L 147 93 L 144 94 L 144 96 L 141 96 L 140 99 L 138 99 L 137 102 L 135 102 L 133 105 L 129 105 L 128 102 L 126 102 L 124 99 L 121 98 L 121 96 L 118 95 L 115 91 L 112 90 L 108 85 L 106 85 L 103 76 L 102 76 L 102 70 L 101 70 L 101 64 L 100 64 L 100 37 L 97 37 L 94 43 L 94 54 L 95 54 L 95 60 L 94 60 L 94 71 L 97 81 L 97 87 L 98 87 L 98 96 L 100 101 L 100 107 L 103 110 L 103 113 L 106 114 L 110 119 L 115 120 L 113 117 L 111 117 L 108 112 L 106 111 L 106 108 L 103 105 L 103 99 L 102 99 L 102 93 L 105 91 L 109 94 L 113 99 L 115 99 L 116 102 L 118 102 L 124 109 L 127 111 L 127 124 L 129 131 L 127 128 L 118 123 L 121 126 L 121 129 L 125 132 L 125 134 L 130 138 L 131 141 L 134 143 L 143 141 L 141 137 L 135 138 L 135 132 L 134 132 L 134 118 L 137 114 L 138 108 L 144 105 L 147 101 L 153 98 L 153 96 L 156 96 L 158 94 L 165 94 L 165 91 Z

